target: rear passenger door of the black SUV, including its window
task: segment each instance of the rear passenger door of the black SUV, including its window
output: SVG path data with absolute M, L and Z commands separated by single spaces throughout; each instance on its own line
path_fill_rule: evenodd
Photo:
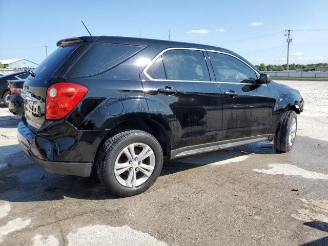
M 173 150 L 221 136 L 221 92 L 207 56 L 201 49 L 169 48 L 145 69 L 142 85 L 151 117 L 168 122 Z

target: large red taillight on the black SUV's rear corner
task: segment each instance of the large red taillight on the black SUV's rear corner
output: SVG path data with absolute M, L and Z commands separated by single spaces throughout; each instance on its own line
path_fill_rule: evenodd
M 85 86 L 60 82 L 47 91 L 46 119 L 60 119 L 67 115 L 87 94 Z

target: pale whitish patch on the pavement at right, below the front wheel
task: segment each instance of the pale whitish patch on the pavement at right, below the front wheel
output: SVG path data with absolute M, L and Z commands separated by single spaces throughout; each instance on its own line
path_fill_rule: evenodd
M 253 169 L 255 172 L 266 173 L 266 174 L 283 174 L 283 175 L 299 175 L 303 178 L 313 178 L 313 179 L 327 179 L 328 175 L 324 173 L 316 173 L 312 171 L 308 171 L 297 166 L 293 166 L 290 164 L 269 164 L 269 167 L 272 169 Z

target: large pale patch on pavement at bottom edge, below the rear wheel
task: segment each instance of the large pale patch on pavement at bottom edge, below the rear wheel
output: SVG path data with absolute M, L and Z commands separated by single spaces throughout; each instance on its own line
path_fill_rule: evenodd
M 79 228 L 75 233 L 67 236 L 68 245 L 156 245 L 167 246 L 166 243 L 158 241 L 148 233 L 139 232 L 128 226 L 87 226 Z

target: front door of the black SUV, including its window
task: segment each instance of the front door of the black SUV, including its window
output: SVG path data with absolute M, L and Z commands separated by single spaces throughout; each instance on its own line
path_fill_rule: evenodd
M 274 99 L 267 85 L 256 85 L 259 74 L 234 55 L 208 52 L 216 81 L 222 91 L 223 122 L 220 141 L 265 137 L 270 134 Z

